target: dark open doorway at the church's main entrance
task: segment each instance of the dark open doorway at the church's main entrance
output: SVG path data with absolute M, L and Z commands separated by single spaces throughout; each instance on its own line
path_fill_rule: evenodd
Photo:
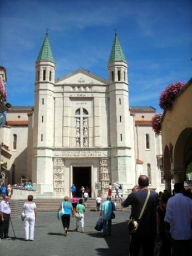
M 73 184 L 76 186 L 76 196 L 81 197 L 81 186 L 88 188 L 88 196 L 91 197 L 91 166 L 73 167 Z

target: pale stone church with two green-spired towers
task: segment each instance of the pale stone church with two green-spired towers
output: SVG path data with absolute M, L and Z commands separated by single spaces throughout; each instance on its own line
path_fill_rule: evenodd
M 108 80 L 83 69 L 56 79 L 46 34 L 36 60 L 34 107 L 12 107 L 3 128 L 12 154 L 10 183 L 31 180 L 37 196 L 45 197 L 70 196 L 74 183 L 77 195 L 83 185 L 93 197 L 107 194 L 116 181 L 127 194 L 146 174 L 152 189 L 164 189 L 161 136 L 151 128 L 155 109 L 129 106 L 127 61 L 117 35 L 107 67 Z

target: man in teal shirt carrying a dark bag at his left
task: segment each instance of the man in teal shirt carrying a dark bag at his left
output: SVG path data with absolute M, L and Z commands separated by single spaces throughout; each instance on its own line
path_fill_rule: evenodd
M 108 233 L 111 236 L 111 214 L 115 210 L 115 205 L 111 201 L 111 196 L 107 196 L 107 201 L 102 204 L 100 218 L 102 219 L 103 225 L 103 237 Z

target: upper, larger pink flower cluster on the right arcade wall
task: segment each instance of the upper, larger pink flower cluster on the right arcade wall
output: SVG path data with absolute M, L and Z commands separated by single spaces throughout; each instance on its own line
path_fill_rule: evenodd
M 166 89 L 161 92 L 159 106 L 163 110 L 171 110 L 173 106 L 173 102 L 175 100 L 175 96 L 178 94 L 180 90 L 185 86 L 185 82 L 175 82 L 171 83 L 166 87 Z

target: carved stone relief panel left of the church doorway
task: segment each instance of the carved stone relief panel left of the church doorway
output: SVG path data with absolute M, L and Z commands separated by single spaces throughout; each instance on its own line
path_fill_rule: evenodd
M 53 188 L 55 195 L 64 194 L 64 164 L 60 158 L 53 160 Z

